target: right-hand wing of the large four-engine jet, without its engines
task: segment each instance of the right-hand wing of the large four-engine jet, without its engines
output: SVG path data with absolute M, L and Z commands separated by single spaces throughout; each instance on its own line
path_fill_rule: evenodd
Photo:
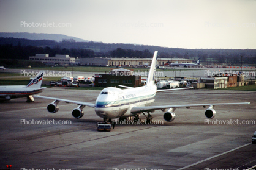
M 142 112 L 154 112 L 155 110 L 165 110 L 168 108 L 178 108 L 178 107 L 198 107 L 198 106 L 213 106 L 214 105 L 236 105 L 236 104 L 250 104 L 250 102 L 241 102 L 241 103 L 221 103 L 221 104 L 185 104 L 185 105 L 159 105 L 159 106 L 142 106 L 142 107 L 133 107 L 130 113 L 137 114 Z

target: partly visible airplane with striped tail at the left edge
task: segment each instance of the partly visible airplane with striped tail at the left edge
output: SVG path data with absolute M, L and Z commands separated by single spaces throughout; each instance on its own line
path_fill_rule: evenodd
M 41 93 L 44 88 L 41 87 L 43 81 L 43 73 L 38 74 L 32 79 L 28 85 L 1 85 L 0 101 L 9 101 L 10 99 L 27 97 L 27 102 L 33 102 L 32 95 Z

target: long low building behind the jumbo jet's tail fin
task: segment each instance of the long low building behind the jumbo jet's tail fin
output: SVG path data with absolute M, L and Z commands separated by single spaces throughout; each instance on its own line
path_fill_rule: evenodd
M 77 58 L 76 63 L 90 66 L 150 66 L 152 58 Z M 167 62 L 193 63 L 193 60 L 184 58 L 157 58 L 157 65 L 164 65 Z

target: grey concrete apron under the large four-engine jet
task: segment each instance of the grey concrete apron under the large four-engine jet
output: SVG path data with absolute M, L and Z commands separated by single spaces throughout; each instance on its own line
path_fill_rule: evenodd
M 99 92 L 54 87 L 40 94 L 94 102 Z M 93 108 L 85 107 L 83 118 L 74 119 L 76 104 L 60 102 L 59 111 L 51 114 L 46 107 L 53 101 L 12 99 L 0 104 L 0 169 L 247 169 L 256 165 L 256 144 L 250 144 L 256 131 L 255 94 L 206 89 L 157 93 L 154 105 L 252 103 L 214 107 L 211 124 L 205 120 L 206 108 L 177 108 L 173 122 L 156 111 L 153 120 L 164 124 L 116 125 L 111 132 L 97 132 L 96 122 L 102 119 Z

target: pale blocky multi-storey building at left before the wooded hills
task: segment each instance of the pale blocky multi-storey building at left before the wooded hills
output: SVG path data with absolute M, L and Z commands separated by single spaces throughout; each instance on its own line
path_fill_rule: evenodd
M 74 57 L 59 54 L 56 54 L 55 57 L 49 57 L 49 54 L 36 54 L 36 56 L 29 57 L 29 60 L 40 61 L 48 65 L 70 65 L 72 63 L 75 63 Z

